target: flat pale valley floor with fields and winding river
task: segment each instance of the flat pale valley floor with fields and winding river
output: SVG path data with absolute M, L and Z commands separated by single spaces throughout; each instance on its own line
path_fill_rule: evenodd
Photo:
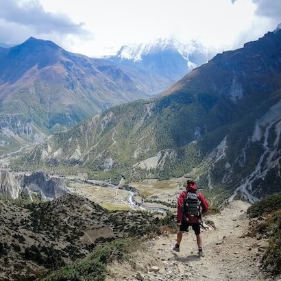
M 115 186 L 97 180 L 63 177 L 72 193 L 81 195 L 108 210 L 147 210 L 149 212 L 175 212 L 180 180 L 159 182 L 147 180 Z

